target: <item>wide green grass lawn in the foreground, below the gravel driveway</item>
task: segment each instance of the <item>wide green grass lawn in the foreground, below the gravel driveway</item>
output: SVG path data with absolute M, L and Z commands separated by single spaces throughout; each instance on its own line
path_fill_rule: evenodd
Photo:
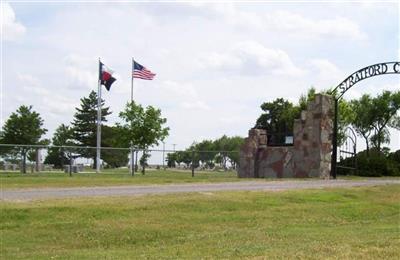
M 399 259 L 400 185 L 2 202 L 2 259 Z

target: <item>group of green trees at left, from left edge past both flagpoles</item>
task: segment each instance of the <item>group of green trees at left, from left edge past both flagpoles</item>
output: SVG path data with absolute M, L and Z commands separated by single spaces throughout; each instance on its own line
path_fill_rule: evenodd
M 128 102 L 119 113 L 120 122 L 107 125 L 107 117 L 111 114 L 110 107 L 102 103 L 102 147 L 122 147 L 146 150 L 152 145 L 158 145 L 169 133 L 165 126 L 167 119 L 161 116 L 161 110 L 148 106 L 142 107 L 135 102 Z M 75 108 L 75 114 L 70 124 L 61 124 L 55 130 L 51 140 L 44 139 L 47 132 L 44 120 L 32 106 L 20 106 L 6 120 L 0 132 L 1 144 L 16 145 L 49 145 L 46 164 L 60 168 L 69 164 L 77 157 L 91 158 L 96 165 L 96 136 L 97 136 L 97 93 L 91 91 L 87 97 L 80 100 L 80 106 Z M 64 147 L 59 147 L 64 146 Z M 82 147 L 78 149 L 66 146 Z M 90 148 L 88 148 L 90 147 Z M 16 162 L 22 157 L 22 171 L 26 172 L 27 158 L 34 161 L 36 150 L 29 147 L 7 147 L 0 150 L 6 155 L 6 160 Z M 128 162 L 127 150 L 101 150 L 101 158 L 110 167 L 120 167 Z

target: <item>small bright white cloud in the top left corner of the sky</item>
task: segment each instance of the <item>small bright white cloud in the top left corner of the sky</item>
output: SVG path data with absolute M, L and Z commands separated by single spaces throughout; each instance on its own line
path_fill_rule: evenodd
M 26 31 L 26 28 L 16 21 L 15 12 L 10 4 L 4 2 L 1 2 L 1 27 L 3 41 L 16 41 Z

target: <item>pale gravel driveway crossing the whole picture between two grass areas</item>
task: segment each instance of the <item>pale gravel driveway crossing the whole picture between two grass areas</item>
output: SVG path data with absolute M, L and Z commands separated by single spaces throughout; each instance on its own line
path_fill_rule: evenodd
M 400 184 L 399 179 L 365 180 L 282 180 L 282 181 L 243 181 L 224 183 L 196 183 L 146 186 L 110 186 L 79 188 L 41 188 L 1 190 L 2 201 L 27 201 L 36 199 L 95 197 L 95 196 L 137 196 L 146 194 L 168 194 L 181 192 L 214 191 L 280 191 L 296 189 L 322 189 L 336 187 L 357 187 Z

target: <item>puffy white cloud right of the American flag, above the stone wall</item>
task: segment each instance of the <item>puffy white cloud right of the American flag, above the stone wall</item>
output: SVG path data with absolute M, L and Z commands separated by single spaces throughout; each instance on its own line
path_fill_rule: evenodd
M 254 41 L 235 44 L 226 52 L 202 55 L 199 63 L 204 69 L 219 69 L 240 75 L 299 76 L 304 71 L 296 67 L 289 55 L 280 49 L 269 49 Z

